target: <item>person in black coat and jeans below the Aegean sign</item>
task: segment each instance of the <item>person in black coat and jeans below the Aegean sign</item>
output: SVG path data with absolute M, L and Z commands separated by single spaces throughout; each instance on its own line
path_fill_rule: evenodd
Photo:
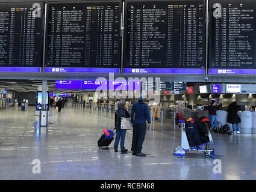
M 232 124 L 234 133 L 241 133 L 240 132 L 240 122 L 241 119 L 237 112 L 239 111 L 240 106 L 237 104 L 236 101 L 229 104 L 228 106 L 228 122 Z

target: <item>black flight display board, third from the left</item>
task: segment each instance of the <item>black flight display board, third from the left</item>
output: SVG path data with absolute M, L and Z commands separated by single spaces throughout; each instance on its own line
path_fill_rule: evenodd
M 123 73 L 204 74 L 205 1 L 127 0 Z

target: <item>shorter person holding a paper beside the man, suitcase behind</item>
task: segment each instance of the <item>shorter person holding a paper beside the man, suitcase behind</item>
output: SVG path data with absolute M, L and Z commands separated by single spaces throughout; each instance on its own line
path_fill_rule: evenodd
M 117 103 L 117 108 L 118 109 L 116 110 L 116 113 L 114 114 L 114 124 L 116 127 L 116 140 L 114 142 L 114 151 L 117 152 L 119 140 L 121 138 L 121 142 L 120 142 L 121 152 L 124 154 L 124 153 L 127 153 L 128 150 L 125 149 L 126 130 L 121 129 L 121 117 L 130 118 L 131 116 L 128 113 L 128 111 L 125 109 L 124 101 L 119 101 Z

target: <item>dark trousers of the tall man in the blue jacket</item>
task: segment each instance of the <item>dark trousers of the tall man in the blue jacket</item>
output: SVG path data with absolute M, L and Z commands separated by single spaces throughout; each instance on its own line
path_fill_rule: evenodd
M 136 154 L 142 153 L 142 145 L 146 135 L 146 124 L 133 125 L 133 143 L 131 144 L 131 151 Z

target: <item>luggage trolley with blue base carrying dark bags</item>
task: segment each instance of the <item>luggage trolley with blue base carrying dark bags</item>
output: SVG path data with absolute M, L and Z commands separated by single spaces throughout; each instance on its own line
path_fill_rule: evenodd
M 214 149 L 208 149 L 208 145 L 210 143 L 213 143 L 213 138 L 211 137 L 210 132 L 209 132 L 210 142 L 203 143 L 202 145 L 193 146 L 192 148 L 190 148 L 189 141 L 187 140 L 187 135 L 185 131 L 185 122 L 182 120 L 177 122 L 180 122 L 181 124 L 181 146 L 178 146 L 178 148 L 174 149 L 173 155 L 175 155 L 176 157 L 184 157 L 186 152 L 189 152 L 189 151 L 203 151 L 205 157 L 213 157 L 215 155 Z M 205 148 L 202 148 L 202 146 L 205 146 Z

